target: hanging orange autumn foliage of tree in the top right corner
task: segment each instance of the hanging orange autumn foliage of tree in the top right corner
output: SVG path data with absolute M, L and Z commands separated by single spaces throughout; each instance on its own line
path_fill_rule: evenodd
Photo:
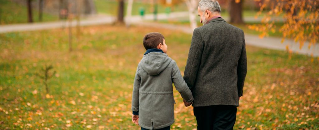
M 261 24 L 249 28 L 262 32 L 260 37 L 268 36 L 269 32 L 279 31 L 283 34 L 282 42 L 286 38 L 292 38 L 299 42 L 300 49 L 306 41 L 309 41 L 309 49 L 315 47 L 319 36 L 319 0 L 264 0 L 259 6 L 260 11 L 256 17 L 266 8 L 269 8 L 269 11 L 261 20 Z M 282 16 L 284 24 L 276 30 L 273 18 L 278 16 Z M 287 49 L 289 50 L 288 46 Z

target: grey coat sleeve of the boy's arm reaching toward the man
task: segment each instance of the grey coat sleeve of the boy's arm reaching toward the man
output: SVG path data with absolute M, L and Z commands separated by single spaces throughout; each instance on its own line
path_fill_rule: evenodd
M 193 102 L 194 98 L 193 98 L 192 92 L 189 90 L 174 60 L 173 60 L 172 81 L 174 83 L 176 90 L 181 94 L 181 96 L 188 103 Z

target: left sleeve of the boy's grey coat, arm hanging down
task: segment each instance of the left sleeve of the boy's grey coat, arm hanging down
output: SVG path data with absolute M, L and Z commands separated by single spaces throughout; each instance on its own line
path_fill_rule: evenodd
M 132 111 L 134 115 L 138 115 L 138 107 L 139 107 L 139 101 L 138 101 L 138 91 L 141 84 L 141 77 L 138 73 L 138 67 L 136 70 L 135 78 L 134 78 L 134 84 L 133 84 L 133 94 L 132 94 Z

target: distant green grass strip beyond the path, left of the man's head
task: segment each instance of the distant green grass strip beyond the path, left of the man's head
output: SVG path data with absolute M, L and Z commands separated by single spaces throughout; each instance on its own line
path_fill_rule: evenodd
M 98 13 L 111 14 L 116 16 L 118 2 L 114 0 L 94 0 Z M 127 2 L 124 5 L 124 15 L 126 14 Z M 132 15 L 140 15 L 140 9 L 144 8 L 145 14 L 153 13 L 153 5 L 141 2 L 134 2 L 132 6 Z M 165 13 L 167 6 L 158 4 L 158 13 Z M 171 11 L 187 11 L 187 6 L 184 3 L 174 5 Z

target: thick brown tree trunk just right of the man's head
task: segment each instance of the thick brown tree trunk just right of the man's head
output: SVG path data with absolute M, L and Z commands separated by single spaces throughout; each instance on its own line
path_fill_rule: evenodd
M 230 1 L 229 16 L 230 16 L 231 23 L 235 23 L 235 24 L 244 23 L 242 19 L 242 3 L 243 3 L 243 0 L 241 0 L 239 3 L 236 3 L 235 0 Z

